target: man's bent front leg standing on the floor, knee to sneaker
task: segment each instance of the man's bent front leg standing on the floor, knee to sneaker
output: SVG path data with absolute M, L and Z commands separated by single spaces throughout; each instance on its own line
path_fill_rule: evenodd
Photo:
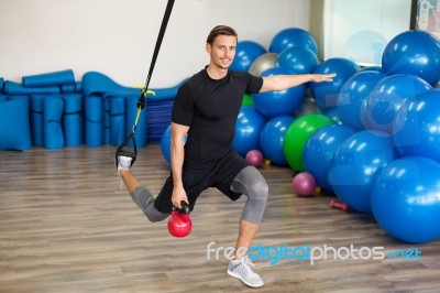
M 248 166 L 235 176 L 231 189 L 245 194 L 248 200 L 240 219 L 235 259 L 229 263 L 228 274 L 240 279 L 249 286 L 262 286 L 263 280 L 252 271 L 253 263 L 246 254 L 263 219 L 268 187 L 260 172 L 255 167 Z

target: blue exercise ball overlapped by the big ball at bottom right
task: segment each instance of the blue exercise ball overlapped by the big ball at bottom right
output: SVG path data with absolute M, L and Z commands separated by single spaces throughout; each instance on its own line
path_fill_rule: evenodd
M 371 213 L 370 194 L 374 176 L 397 159 L 392 137 L 363 130 L 345 139 L 334 152 L 328 180 L 336 195 L 349 207 Z

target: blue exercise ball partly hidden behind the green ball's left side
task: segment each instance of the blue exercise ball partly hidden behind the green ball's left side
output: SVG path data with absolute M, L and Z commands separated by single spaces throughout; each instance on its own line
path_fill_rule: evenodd
M 287 129 L 294 122 L 292 116 L 277 116 L 270 119 L 260 133 L 260 146 L 264 158 L 275 165 L 286 166 L 283 144 Z

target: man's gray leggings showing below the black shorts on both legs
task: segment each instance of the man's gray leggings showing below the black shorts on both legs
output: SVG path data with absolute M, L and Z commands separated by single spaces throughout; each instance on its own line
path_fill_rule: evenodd
M 253 166 L 244 167 L 234 177 L 231 191 L 248 196 L 241 219 L 260 224 L 263 219 L 268 194 L 266 181 L 260 172 Z M 154 207 L 154 197 L 144 186 L 134 188 L 131 197 L 150 221 L 161 221 L 169 216 L 169 214 L 161 213 Z

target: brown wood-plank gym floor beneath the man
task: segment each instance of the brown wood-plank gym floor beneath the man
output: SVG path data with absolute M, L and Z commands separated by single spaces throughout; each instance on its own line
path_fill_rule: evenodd
M 207 191 L 191 234 L 176 239 L 121 188 L 113 155 L 112 146 L 0 152 L 0 292 L 440 292 L 439 242 L 405 245 L 371 215 L 330 209 L 330 195 L 297 197 L 293 171 L 275 166 L 261 169 L 270 199 L 255 246 L 419 249 L 421 260 L 256 260 L 265 286 L 250 289 L 227 275 L 222 254 L 207 259 L 209 242 L 234 245 L 244 198 Z M 160 145 L 140 150 L 133 172 L 157 194 L 169 172 Z

